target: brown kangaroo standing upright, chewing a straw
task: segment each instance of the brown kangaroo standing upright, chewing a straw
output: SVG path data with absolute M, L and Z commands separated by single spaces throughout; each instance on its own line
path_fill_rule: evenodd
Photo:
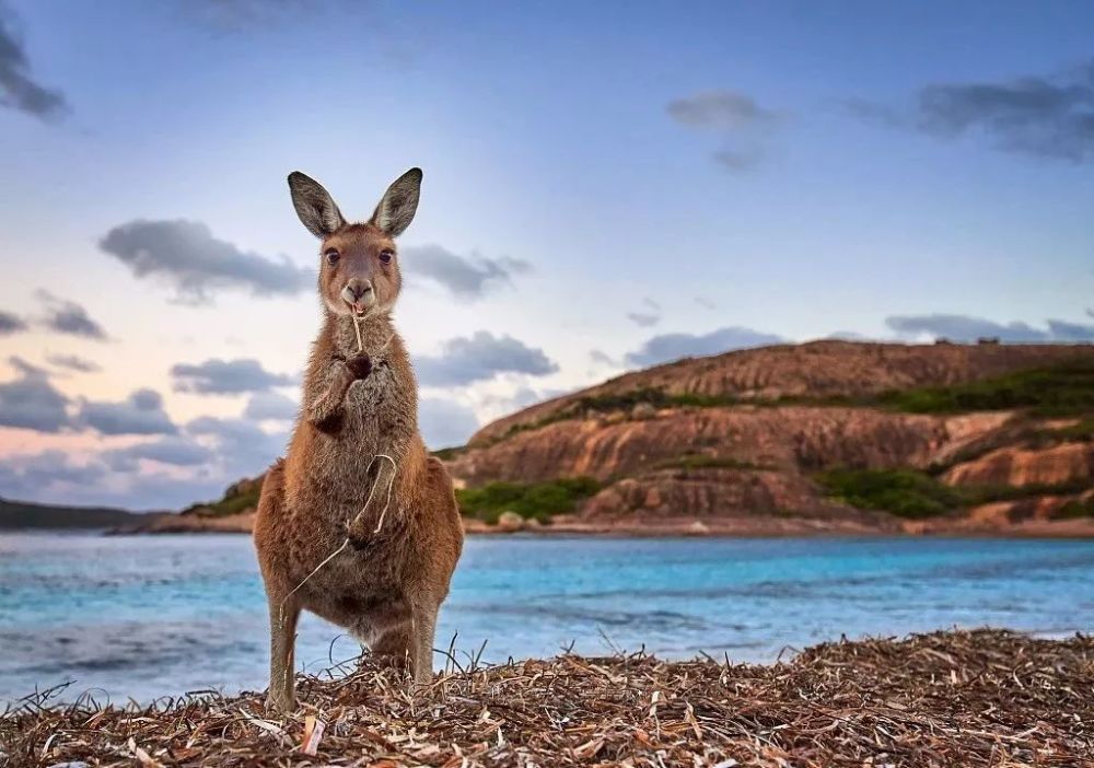
M 324 322 L 284 458 L 263 482 L 255 548 L 270 614 L 268 705 L 295 708 L 293 651 L 304 608 L 374 654 L 432 677 L 437 613 L 463 549 L 452 478 L 418 431 L 417 382 L 391 312 L 401 287 L 395 237 L 418 208 L 421 171 L 347 223 L 330 195 L 289 176 L 322 241 Z

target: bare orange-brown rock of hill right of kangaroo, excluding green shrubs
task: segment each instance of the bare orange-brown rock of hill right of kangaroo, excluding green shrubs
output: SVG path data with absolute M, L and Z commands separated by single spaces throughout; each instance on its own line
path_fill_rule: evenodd
M 1094 370 L 1094 348 L 826 341 L 685 360 L 500 419 L 449 467 L 467 487 L 595 478 L 602 489 L 556 519 L 571 530 L 970 532 L 1066 519 L 1061 532 L 1094 533 L 1082 419 L 913 414 L 871 399 L 1076 361 Z M 1005 399 L 1010 384 L 1000 386 Z M 928 522 L 846 503 L 818 482 L 840 468 L 913 473 L 952 488 L 952 511 Z

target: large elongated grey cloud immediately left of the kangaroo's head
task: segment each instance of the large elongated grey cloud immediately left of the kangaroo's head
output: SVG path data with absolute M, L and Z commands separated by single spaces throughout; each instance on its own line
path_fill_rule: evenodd
M 288 258 L 241 251 L 197 221 L 130 221 L 107 232 L 98 247 L 138 278 L 153 277 L 174 288 L 175 299 L 187 304 L 208 303 L 228 289 L 255 296 L 296 295 L 314 281 L 311 270 Z

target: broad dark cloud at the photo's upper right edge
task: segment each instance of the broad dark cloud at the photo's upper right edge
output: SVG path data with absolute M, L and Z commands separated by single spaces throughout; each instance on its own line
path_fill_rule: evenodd
M 1009 152 L 1094 161 L 1094 59 L 1047 75 L 926 85 L 908 110 L 861 101 L 846 106 L 860 118 L 940 138 L 975 135 Z

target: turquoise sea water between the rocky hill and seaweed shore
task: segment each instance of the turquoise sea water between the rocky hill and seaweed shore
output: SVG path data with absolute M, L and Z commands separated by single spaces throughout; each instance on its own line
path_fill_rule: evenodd
M 769 661 L 955 625 L 1094 630 L 1094 542 L 472 538 L 438 645 Z M 266 643 L 248 537 L 0 534 L 0 702 L 68 680 L 68 700 L 258 689 Z M 312 672 L 357 653 L 310 615 L 298 648 Z

